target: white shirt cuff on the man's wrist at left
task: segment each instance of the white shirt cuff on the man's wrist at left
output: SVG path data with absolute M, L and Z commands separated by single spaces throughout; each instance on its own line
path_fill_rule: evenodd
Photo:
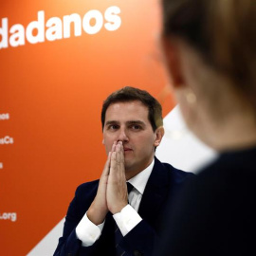
M 103 227 L 104 222 L 96 226 L 88 219 L 86 212 L 76 228 L 76 234 L 78 239 L 82 241 L 82 247 L 92 246 L 101 236 Z

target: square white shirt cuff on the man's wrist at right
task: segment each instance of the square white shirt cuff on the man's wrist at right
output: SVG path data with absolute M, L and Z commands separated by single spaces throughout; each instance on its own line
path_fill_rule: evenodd
M 119 226 L 120 232 L 123 236 L 134 229 L 142 220 L 137 211 L 130 205 L 127 205 L 120 212 L 114 214 L 113 218 Z

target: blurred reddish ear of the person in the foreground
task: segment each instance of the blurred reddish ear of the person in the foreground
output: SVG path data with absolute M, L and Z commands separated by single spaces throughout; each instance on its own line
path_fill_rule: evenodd
M 180 52 L 178 41 L 165 36 L 161 36 L 161 46 L 163 58 L 174 88 L 184 85 L 183 73 L 181 70 Z

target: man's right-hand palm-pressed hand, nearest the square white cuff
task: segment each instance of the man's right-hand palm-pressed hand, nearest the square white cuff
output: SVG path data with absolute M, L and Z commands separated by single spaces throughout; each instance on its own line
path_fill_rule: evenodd
M 119 212 L 128 204 L 124 153 L 121 141 L 118 142 L 111 154 L 106 201 L 108 210 L 113 214 Z

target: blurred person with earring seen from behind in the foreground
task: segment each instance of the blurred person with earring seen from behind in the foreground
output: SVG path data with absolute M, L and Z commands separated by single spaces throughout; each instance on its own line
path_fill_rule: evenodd
M 181 193 L 155 255 L 256 255 L 256 1 L 162 5 L 176 100 L 219 156 Z

